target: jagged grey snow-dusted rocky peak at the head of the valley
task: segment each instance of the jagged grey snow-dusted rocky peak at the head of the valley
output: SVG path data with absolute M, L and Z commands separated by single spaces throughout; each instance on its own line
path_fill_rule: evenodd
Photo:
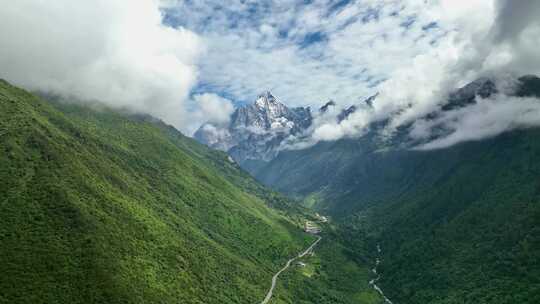
M 206 123 L 195 139 L 212 148 L 227 151 L 236 161 L 273 159 L 283 140 L 305 131 L 312 122 L 310 108 L 288 108 L 270 92 L 254 103 L 240 107 L 227 125 Z

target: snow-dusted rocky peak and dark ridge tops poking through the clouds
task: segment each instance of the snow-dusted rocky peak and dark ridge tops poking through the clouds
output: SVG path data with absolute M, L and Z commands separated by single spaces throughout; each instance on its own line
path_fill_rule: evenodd
M 489 98 L 500 93 L 505 96 L 527 97 L 536 96 L 536 87 L 540 79 L 536 76 L 528 75 L 517 78 L 513 81 L 505 79 L 506 82 L 513 83 L 508 88 L 505 83 L 497 78 L 480 78 L 462 88 L 459 88 L 448 95 L 448 99 L 441 104 L 438 110 L 428 113 L 420 119 L 435 120 L 441 113 L 450 112 L 459 108 L 470 106 L 476 103 L 477 98 Z M 497 84 L 499 83 L 499 84 Z M 334 117 L 334 121 L 341 123 L 351 114 L 361 110 L 369 110 L 376 102 L 378 93 L 353 104 L 349 107 L 339 109 Z M 317 116 L 328 113 L 336 108 L 334 101 L 330 100 L 312 113 L 309 107 L 289 108 L 284 103 L 278 101 L 270 92 L 266 92 L 257 97 L 254 103 L 237 108 L 231 115 L 228 124 L 203 124 L 194 134 L 194 138 L 199 142 L 229 153 L 246 170 L 259 168 L 261 164 L 271 162 L 280 152 L 287 153 L 284 142 L 296 137 L 309 137 L 310 127 L 313 127 L 314 119 Z M 368 129 L 370 136 L 377 136 L 375 131 L 381 131 L 390 123 L 390 119 L 372 123 Z M 413 142 L 414 139 L 406 136 L 409 133 L 412 123 L 400 127 L 397 133 L 391 134 L 394 137 L 385 138 L 391 145 L 396 147 L 412 147 L 421 144 Z M 437 129 L 440 126 L 433 126 Z M 434 134 L 444 134 L 444 130 L 432 130 Z M 433 140 L 431 137 L 428 140 Z M 387 148 L 381 146 L 379 148 Z M 251 172 L 253 173 L 253 172 Z

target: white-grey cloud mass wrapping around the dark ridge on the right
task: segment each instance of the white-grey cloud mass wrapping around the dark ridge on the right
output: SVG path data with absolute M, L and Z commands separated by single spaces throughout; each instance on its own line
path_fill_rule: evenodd
M 341 124 L 315 129 L 315 140 L 335 140 L 365 132 L 371 122 L 389 120 L 383 137 L 400 126 L 414 123 L 413 137 L 433 136 L 431 124 L 449 130 L 422 149 L 447 147 L 460 141 L 481 139 L 535 123 L 537 104 L 489 100 L 460 111 L 444 113 L 436 122 L 422 118 L 440 111 L 450 91 L 482 76 L 521 76 L 540 73 L 540 12 L 538 1 L 439 1 L 426 15 L 447 29 L 444 38 L 414 56 L 410 64 L 394 69 L 377 89 L 380 94 L 371 113 L 354 113 Z M 512 78 L 512 77 L 510 77 Z M 502 97 L 500 97 L 502 98 Z M 507 100 L 511 99 L 506 97 Z M 463 117 L 461 117 L 463 115 Z M 475 119 L 475 116 L 478 119 Z

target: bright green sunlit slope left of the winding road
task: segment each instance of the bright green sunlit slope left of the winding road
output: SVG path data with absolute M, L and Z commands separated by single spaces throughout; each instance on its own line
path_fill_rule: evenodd
M 257 302 L 310 241 L 225 155 L 162 124 L 5 82 L 0 109 L 2 303 Z

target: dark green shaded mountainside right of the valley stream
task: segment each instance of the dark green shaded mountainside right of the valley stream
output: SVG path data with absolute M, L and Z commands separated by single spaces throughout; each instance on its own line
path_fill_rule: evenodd
M 522 80 L 516 95 L 540 96 Z M 540 129 L 433 151 L 368 134 L 252 168 L 332 215 L 353 260 L 374 263 L 379 243 L 395 303 L 540 303 Z

